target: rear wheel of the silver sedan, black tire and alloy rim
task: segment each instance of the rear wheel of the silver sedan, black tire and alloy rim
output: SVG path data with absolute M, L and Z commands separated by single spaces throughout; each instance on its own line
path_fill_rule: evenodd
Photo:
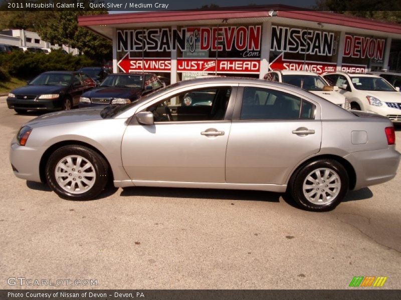
M 329 170 L 327 177 L 325 170 Z M 323 180 L 319 180 L 317 174 L 320 174 L 320 179 Z M 308 177 L 309 175 L 311 177 Z M 317 180 L 312 182 L 307 177 Z M 305 191 L 304 183 L 308 186 Z M 318 159 L 304 164 L 294 172 L 289 182 L 289 193 L 301 208 L 327 211 L 334 209 L 342 201 L 348 191 L 348 185 L 348 173 L 341 163 L 334 159 Z M 314 196 L 314 199 L 308 199 L 305 193 L 312 193 L 310 198 Z

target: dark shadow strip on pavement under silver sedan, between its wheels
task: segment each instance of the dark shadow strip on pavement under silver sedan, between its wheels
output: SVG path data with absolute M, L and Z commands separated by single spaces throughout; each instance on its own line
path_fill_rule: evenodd
M 280 202 L 280 193 L 260 190 L 177 188 L 177 187 L 124 187 L 121 196 L 177 197 L 223 200 L 249 200 Z

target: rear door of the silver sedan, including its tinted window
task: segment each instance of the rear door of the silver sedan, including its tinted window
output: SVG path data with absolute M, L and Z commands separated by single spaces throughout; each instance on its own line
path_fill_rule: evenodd
M 320 106 L 258 85 L 240 87 L 238 94 L 242 104 L 236 102 L 227 145 L 227 182 L 286 184 L 294 167 L 320 150 Z

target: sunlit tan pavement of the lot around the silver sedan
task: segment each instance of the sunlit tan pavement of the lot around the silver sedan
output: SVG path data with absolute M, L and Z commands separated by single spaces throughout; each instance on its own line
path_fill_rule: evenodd
M 0 288 L 343 289 L 354 276 L 401 287 L 400 170 L 324 213 L 260 191 L 119 188 L 68 201 L 12 172 L 10 141 L 36 115 L 0 99 Z M 401 127 L 396 138 L 401 150 Z M 10 277 L 97 285 L 10 286 Z

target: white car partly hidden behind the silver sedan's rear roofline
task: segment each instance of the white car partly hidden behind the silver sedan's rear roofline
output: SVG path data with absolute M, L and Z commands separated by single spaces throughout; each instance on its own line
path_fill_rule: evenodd
M 348 99 L 336 92 L 338 86 L 331 86 L 318 73 L 309 71 L 274 70 L 268 72 L 264 76 L 264 79 L 284 82 L 304 88 L 342 108 L 350 109 Z

